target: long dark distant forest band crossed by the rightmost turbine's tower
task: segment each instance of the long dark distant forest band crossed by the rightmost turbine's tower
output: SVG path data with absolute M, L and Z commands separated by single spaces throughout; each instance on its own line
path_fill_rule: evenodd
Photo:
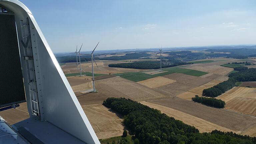
M 191 63 L 186 62 L 169 62 L 163 61 L 162 68 L 174 67 L 179 65 L 186 65 Z M 132 63 L 118 63 L 118 64 L 109 64 L 109 67 L 118 67 L 118 68 L 133 68 L 133 69 L 160 69 L 160 61 L 138 61 Z

